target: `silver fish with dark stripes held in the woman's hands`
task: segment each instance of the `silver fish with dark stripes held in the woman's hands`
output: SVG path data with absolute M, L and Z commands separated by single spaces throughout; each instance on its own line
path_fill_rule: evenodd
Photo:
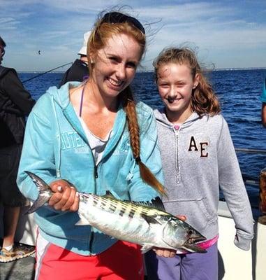
M 27 211 L 31 214 L 52 196 L 50 187 L 36 174 L 26 172 L 39 190 L 37 200 Z M 119 240 L 139 244 L 142 253 L 151 248 L 168 248 L 177 253 L 206 250 L 197 245 L 206 240 L 189 223 L 164 211 L 163 207 L 153 207 L 152 202 L 131 202 L 117 200 L 110 192 L 103 196 L 79 193 L 80 204 L 76 225 L 91 225 L 105 235 Z

